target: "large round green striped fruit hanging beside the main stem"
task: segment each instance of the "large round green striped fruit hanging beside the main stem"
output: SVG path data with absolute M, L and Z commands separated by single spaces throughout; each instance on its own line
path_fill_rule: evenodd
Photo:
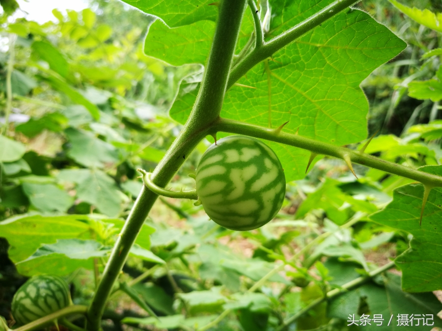
M 195 180 L 207 215 L 227 229 L 262 227 L 284 201 L 279 159 L 266 144 L 247 136 L 229 136 L 210 146 L 199 161 Z

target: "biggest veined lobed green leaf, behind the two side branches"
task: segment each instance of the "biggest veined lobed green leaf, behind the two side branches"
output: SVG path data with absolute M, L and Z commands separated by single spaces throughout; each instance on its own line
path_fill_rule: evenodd
M 304 18 L 309 1 L 291 2 L 292 15 Z M 298 8 L 298 9 L 297 9 Z M 304 8 L 305 9 L 305 8 Z M 406 44 L 366 13 L 348 10 L 252 68 L 226 94 L 221 116 L 284 130 L 335 145 L 366 138 L 368 104 L 360 82 Z M 249 86 L 249 87 L 247 87 Z M 184 123 L 196 91 L 183 85 L 170 116 Z M 252 87 L 252 88 L 250 88 Z M 269 144 L 287 180 L 304 177 L 308 153 Z

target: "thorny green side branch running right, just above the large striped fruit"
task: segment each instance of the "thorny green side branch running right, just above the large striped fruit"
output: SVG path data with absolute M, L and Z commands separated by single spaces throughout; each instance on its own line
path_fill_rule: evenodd
M 417 180 L 424 185 L 442 187 L 442 177 L 404 167 L 393 162 L 388 162 L 375 156 L 360 153 L 359 151 L 353 151 L 348 148 L 323 143 L 297 134 L 276 132 L 275 130 L 266 127 L 259 127 L 227 119 L 220 119 L 218 124 L 213 127 L 213 130 L 249 135 L 340 159 L 344 159 L 344 155 L 347 154 L 352 162 L 379 169 L 390 174 Z

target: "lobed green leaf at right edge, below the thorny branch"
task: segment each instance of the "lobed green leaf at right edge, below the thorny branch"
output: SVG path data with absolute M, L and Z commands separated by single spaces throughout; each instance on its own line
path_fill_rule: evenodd
M 442 166 L 426 166 L 421 170 L 442 175 Z M 420 221 L 424 188 L 409 184 L 393 192 L 393 201 L 370 216 L 380 224 L 407 231 L 413 235 L 410 249 L 395 262 L 402 270 L 402 288 L 407 292 L 435 291 L 442 288 L 442 188 L 433 188 Z

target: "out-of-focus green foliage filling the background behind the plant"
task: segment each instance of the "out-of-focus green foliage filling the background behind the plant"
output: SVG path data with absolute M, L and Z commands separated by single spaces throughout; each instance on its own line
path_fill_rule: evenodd
M 90 9 L 82 12 L 54 10 L 54 21 L 42 25 L 8 18 L 14 2 L 1 2 L 5 13 L 0 26 L 0 221 L 26 214 L 22 224 L 32 226 L 36 215 L 42 215 L 43 223 L 50 216 L 84 215 L 92 234 L 69 242 L 69 247 L 84 248 L 86 239 L 100 245 L 80 258 L 51 248 L 61 255 L 58 266 L 70 263 L 74 269 L 65 272 L 60 267 L 55 273 L 71 283 L 74 302 L 84 304 L 93 293 L 94 277 L 103 270 L 118 222 L 127 216 L 142 186 L 137 168 L 153 170 L 180 130 L 167 115 L 179 82 L 192 73 L 198 75 L 201 67 L 172 67 L 146 56 L 143 42 L 153 19 L 121 2 L 91 0 Z M 440 0 L 403 3 L 442 10 Z M 370 104 L 369 136 L 376 135 L 366 152 L 413 168 L 440 165 L 441 98 L 413 93 L 410 86 L 415 81 L 440 82 L 441 53 L 428 52 L 440 47 L 441 34 L 409 19 L 385 0 L 363 0 L 357 7 L 408 43 L 405 51 L 361 84 Z M 6 93 L 8 79 L 11 102 Z M 206 141 L 198 146 L 170 187 L 193 187 L 188 175 L 208 146 Z M 148 325 L 149 330 L 193 330 L 229 308 L 234 316 L 211 330 L 275 330 L 284 317 L 327 289 L 402 254 L 411 235 L 370 222 L 367 215 L 385 207 L 395 188 L 412 181 L 363 166 L 355 166 L 355 171 L 359 180 L 342 161 L 321 159 L 304 179 L 288 183 L 276 221 L 254 231 L 223 229 L 207 221 L 201 206 L 159 199 L 146 220 L 145 234 L 148 238 L 156 231 L 149 243 L 140 242 L 138 254 L 130 257 L 121 277 L 132 284 L 132 292 L 114 294 L 104 329 L 122 330 L 127 324 L 135 329 Z M 355 219 L 359 222 L 352 228 L 337 228 Z M 70 224 L 75 222 L 72 219 Z M 44 224 L 41 233 L 53 227 Z M 13 229 L 5 226 L 3 231 L 0 315 L 10 320 L 10 302 L 18 286 L 33 274 L 50 272 L 54 265 L 49 258 L 35 264 L 34 252 L 22 259 L 13 258 L 11 251 L 9 256 L 11 239 L 5 238 L 13 236 Z M 334 234 L 301 251 L 328 231 Z M 49 239 L 36 233 L 22 244 L 41 248 L 60 239 L 56 233 Z M 300 252 L 298 259 L 290 260 Z M 83 261 L 77 261 L 81 268 L 73 260 Z M 289 266 L 285 277 L 276 274 L 259 293 L 247 294 L 276 261 Z M 397 293 L 392 300 L 398 305 L 404 300 L 422 306 L 431 302 L 436 313 L 440 310 L 431 293 L 404 299 L 397 290 L 397 275 L 376 281 L 389 284 L 387 292 L 393 293 L 394 288 Z M 370 293 L 369 286 L 377 285 L 367 286 Z M 362 292 L 346 299 L 353 311 L 332 303 L 318 306 L 290 330 L 358 330 L 346 326 L 347 313 L 360 316 L 370 311 L 367 302 L 382 301 L 385 295 Z M 143 304 L 130 299 L 134 293 L 163 318 L 144 318 Z M 237 301 L 232 303 L 232 298 Z M 411 301 L 397 313 L 415 313 Z

